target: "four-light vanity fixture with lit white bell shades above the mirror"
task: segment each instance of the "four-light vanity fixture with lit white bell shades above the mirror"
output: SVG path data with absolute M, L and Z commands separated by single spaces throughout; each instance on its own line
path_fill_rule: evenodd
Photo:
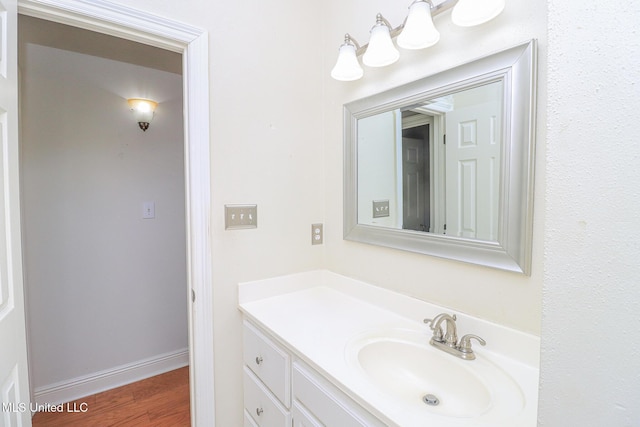
M 398 46 L 403 49 L 424 49 L 440 40 L 440 33 L 433 24 L 433 17 L 453 9 L 451 20 L 461 27 L 484 24 L 498 16 L 505 6 L 505 0 L 445 0 L 433 6 L 431 0 L 414 0 L 404 23 L 391 28 L 389 21 L 381 14 L 376 16 L 376 24 L 371 29 L 369 43 L 360 46 L 349 34 L 340 46 L 338 61 L 331 70 L 331 77 L 341 81 L 358 80 L 364 71 L 358 61 L 369 67 L 384 67 L 393 64 L 400 53 L 393 45 L 397 37 Z

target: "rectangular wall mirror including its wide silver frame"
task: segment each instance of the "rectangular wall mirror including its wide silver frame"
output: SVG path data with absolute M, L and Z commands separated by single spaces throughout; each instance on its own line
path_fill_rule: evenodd
M 345 239 L 529 274 L 535 53 L 345 105 Z

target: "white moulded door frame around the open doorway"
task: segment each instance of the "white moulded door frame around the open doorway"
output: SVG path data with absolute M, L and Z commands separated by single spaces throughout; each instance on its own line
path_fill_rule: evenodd
M 182 54 L 191 425 L 215 426 L 208 33 L 104 0 L 18 0 L 18 13 Z

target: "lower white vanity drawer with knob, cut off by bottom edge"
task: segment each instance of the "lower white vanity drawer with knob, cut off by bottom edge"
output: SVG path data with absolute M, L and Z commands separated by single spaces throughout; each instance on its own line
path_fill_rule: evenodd
M 244 367 L 244 411 L 258 427 L 289 427 L 291 416 L 262 382 Z M 245 419 L 245 425 L 247 420 Z

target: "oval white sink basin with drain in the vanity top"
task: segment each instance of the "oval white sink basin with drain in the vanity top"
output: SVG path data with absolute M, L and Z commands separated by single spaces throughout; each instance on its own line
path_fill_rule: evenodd
M 463 360 L 431 346 L 429 338 L 403 329 L 367 333 L 348 343 L 347 362 L 398 411 L 414 417 L 506 420 L 522 411 L 520 387 L 488 357 Z

